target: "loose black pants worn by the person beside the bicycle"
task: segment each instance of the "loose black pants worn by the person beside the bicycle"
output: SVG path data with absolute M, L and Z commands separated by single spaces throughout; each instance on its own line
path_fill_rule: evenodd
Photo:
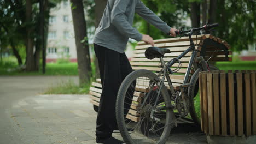
M 132 67 L 125 53 L 122 54 L 97 44 L 94 44 L 94 51 L 98 59 L 102 85 L 96 136 L 98 139 L 105 139 L 111 136 L 113 129 L 117 127 L 115 101 L 121 82 L 132 72 Z M 131 103 L 131 100 L 126 101 Z

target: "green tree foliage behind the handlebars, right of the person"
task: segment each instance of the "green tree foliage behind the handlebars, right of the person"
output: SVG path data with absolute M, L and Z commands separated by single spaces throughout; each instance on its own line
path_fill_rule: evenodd
M 189 26 L 187 23 L 189 17 L 196 13 L 199 15 L 199 24 L 218 22 L 219 27 L 216 29 L 216 35 L 231 45 L 232 50 L 241 51 L 248 49 L 249 44 L 256 42 L 255 28 L 255 6 L 254 0 L 142 0 L 143 3 L 157 14 L 169 26 L 179 28 L 181 26 Z M 203 3 L 206 2 L 206 13 L 202 10 Z M 216 3 L 214 6 L 212 3 Z M 191 4 L 199 5 L 199 10 L 192 11 Z M 212 11 L 210 10 L 212 8 Z M 206 20 L 201 17 L 205 16 Z M 211 16 L 213 19 L 211 19 Z M 191 19 L 191 18 L 190 18 Z M 193 20 L 191 20 L 193 21 Z M 149 34 L 154 39 L 168 37 L 158 29 L 149 25 L 139 16 L 135 18 L 135 26 L 139 27 L 139 31 Z

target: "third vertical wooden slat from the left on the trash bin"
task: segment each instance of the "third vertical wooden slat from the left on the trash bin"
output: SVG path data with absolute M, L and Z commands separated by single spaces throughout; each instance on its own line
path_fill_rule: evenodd
M 219 74 L 213 74 L 214 135 L 220 135 Z

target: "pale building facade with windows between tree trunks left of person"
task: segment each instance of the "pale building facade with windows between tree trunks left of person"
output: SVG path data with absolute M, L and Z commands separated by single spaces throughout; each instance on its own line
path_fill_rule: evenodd
M 74 27 L 69 1 L 62 1 L 50 10 L 46 62 L 69 59 L 77 62 Z

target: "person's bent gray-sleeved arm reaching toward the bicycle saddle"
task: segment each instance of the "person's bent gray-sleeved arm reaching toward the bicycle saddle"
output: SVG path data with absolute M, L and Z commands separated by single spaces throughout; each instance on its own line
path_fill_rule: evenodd
M 131 24 L 126 20 L 126 16 L 124 14 L 129 2 L 130 0 L 115 0 L 110 20 L 121 34 L 140 41 L 142 40 L 142 34 L 139 33 L 136 28 L 131 26 Z

